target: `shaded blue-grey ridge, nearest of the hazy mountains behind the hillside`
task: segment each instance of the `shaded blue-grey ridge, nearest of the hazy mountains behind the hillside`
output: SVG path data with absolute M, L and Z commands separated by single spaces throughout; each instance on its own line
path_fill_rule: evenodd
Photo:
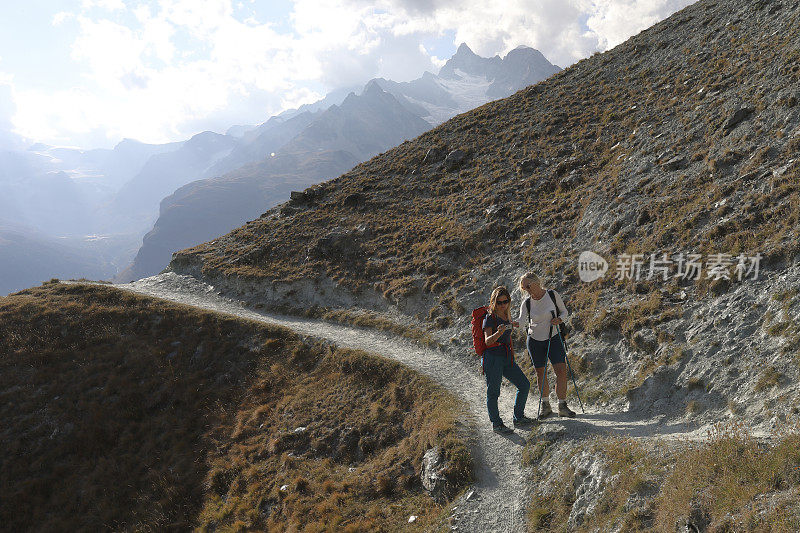
M 257 218 L 264 206 L 284 201 L 291 191 L 341 174 L 429 127 L 376 83 L 361 95 L 351 93 L 340 106 L 309 117 L 298 115 L 293 121 L 305 126 L 259 163 L 219 178 L 198 180 L 165 198 L 159 219 L 145 235 L 133 264 L 116 279 L 125 282 L 156 274 L 175 250 Z M 288 131 L 279 128 L 277 138 Z M 260 140 L 263 135 L 250 145 Z

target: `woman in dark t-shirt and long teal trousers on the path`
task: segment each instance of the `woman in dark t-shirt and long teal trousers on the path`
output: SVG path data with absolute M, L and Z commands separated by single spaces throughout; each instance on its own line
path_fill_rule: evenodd
M 532 419 L 525 416 L 525 402 L 531 384 L 525 373 L 514 361 L 514 345 L 511 341 L 511 294 L 505 287 L 492 291 L 489 308 L 483 319 L 483 334 L 486 350 L 483 352 L 483 371 L 486 375 L 486 408 L 489 420 L 496 433 L 507 434 L 513 430 L 503 424 L 497 399 L 500 397 L 500 382 L 503 376 L 517 387 L 514 402 L 514 427 L 529 425 Z

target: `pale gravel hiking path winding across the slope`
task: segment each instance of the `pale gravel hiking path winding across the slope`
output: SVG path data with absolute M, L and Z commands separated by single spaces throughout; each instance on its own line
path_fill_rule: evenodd
M 220 296 L 218 291 L 190 276 L 165 273 L 115 287 L 158 297 L 197 308 L 284 326 L 295 332 L 326 339 L 346 348 L 378 353 L 421 372 L 459 397 L 467 406 L 465 421 L 472 429 L 476 483 L 474 494 L 462 497 L 452 512 L 458 531 L 525 531 L 525 516 L 531 487 L 522 467 L 522 448 L 528 430 L 516 430 L 509 436 L 491 431 L 486 414 L 486 385 L 483 377 L 466 360 L 441 351 L 421 347 L 411 341 L 383 332 L 352 328 L 319 320 L 264 313 L 246 308 L 240 302 Z M 515 389 L 503 387 L 500 414 L 510 422 Z M 528 401 L 528 413 L 536 410 L 535 394 Z M 576 419 L 551 419 L 547 423 L 563 425 L 568 434 L 625 434 L 634 437 L 699 436 L 696 426 L 668 425 L 664 420 L 636 419 L 629 413 L 589 411 Z

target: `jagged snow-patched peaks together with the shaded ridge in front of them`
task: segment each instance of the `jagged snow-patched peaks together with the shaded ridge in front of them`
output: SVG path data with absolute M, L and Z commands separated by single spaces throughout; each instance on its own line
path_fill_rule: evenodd
M 164 199 L 161 215 L 144 237 L 133 265 L 117 280 L 156 274 L 167 266 L 173 252 L 257 218 L 286 201 L 292 189 L 338 176 L 457 114 L 513 94 L 560 70 L 533 48 L 522 46 L 505 58 L 487 59 L 462 44 L 439 75 L 426 72 L 402 83 L 374 79 L 360 93 L 348 94 L 340 105 L 324 111 L 319 110 L 321 106 L 309 106 L 288 114 L 289 118 L 287 114 L 273 117 L 244 133 L 243 142 L 220 160 L 215 170 L 222 172 L 257 158 L 258 164 L 195 182 Z M 338 98 L 329 95 L 326 100 Z M 326 166 L 320 154 L 329 151 L 337 155 L 324 158 Z M 288 156 L 297 161 L 294 171 L 287 173 L 284 165 L 276 169 L 270 162 Z

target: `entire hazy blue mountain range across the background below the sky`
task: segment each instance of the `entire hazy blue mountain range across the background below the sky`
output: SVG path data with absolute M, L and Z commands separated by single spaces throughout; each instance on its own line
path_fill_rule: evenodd
M 87 276 L 113 276 L 113 269 L 122 270 L 120 261 L 133 260 L 117 276 L 128 281 L 160 271 L 174 251 L 258 217 L 292 190 L 338 176 L 559 70 L 532 48 L 482 58 L 462 44 L 438 75 L 426 72 L 402 83 L 378 78 L 361 88 L 337 89 L 225 134 L 203 132 L 163 145 L 126 139 L 112 150 L 43 144 L 20 149 L 18 137 L 6 136 L 0 139 L 0 210 L 19 224 L 18 237 L 61 243 L 61 252 L 38 254 L 39 264 L 57 265 L 66 257 L 63 249 L 77 243 L 67 255 L 91 266 Z M 104 246 L 87 248 L 81 244 L 87 238 Z M 142 238 L 136 254 L 132 243 Z

